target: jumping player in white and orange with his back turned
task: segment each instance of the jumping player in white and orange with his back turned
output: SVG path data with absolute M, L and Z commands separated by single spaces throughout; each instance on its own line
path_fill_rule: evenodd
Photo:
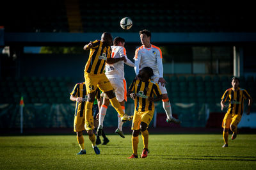
M 127 91 L 126 91 L 126 81 L 124 79 L 124 63 L 126 65 L 134 67 L 134 63 L 132 63 L 131 60 L 129 60 L 126 56 L 126 50 L 124 47 L 125 40 L 121 37 L 116 37 L 114 39 L 114 46 L 111 46 L 112 54 L 111 58 L 113 58 L 113 63 L 107 63 L 106 64 L 106 76 L 109 79 L 109 82 L 111 83 L 116 99 L 120 103 L 123 110 L 125 110 L 124 103 L 127 100 Z M 97 134 L 101 134 L 102 127 L 103 127 L 103 121 L 108 109 L 109 105 L 109 99 L 107 95 L 104 95 L 103 103 L 100 107 L 99 111 L 99 127 L 97 129 Z M 116 129 L 116 134 L 120 135 L 121 137 L 125 137 L 123 130 L 122 130 L 123 122 L 121 121 L 120 116 L 118 115 L 118 128 Z

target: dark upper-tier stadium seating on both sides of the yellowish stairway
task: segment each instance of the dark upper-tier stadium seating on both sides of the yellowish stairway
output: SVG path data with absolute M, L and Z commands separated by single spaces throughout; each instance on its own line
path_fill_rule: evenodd
M 12 9 L 15 17 L 6 20 L 4 27 L 8 32 L 69 32 L 67 1 L 47 1 L 40 5 L 17 4 Z M 8 4 L 10 5 L 10 4 Z M 6 5 L 6 6 L 8 6 Z M 230 20 L 228 10 L 232 4 L 218 3 L 181 3 L 166 1 L 161 3 L 144 2 L 111 2 L 100 3 L 78 1 L 78 24 L 82 24 L 83 32 L 124 32 L 119 27 L 122 17 L 131 17 L 132 31 L 138 32 L 147 27 L 154 32 L 244 32 L 255 31 L 253 10 L 246 10 L 239 4 L 239 15 L 233 14 Z M 225 5 L 227 5 L 225 8 Z M 235 4 L 234 4 L 235 5 Z M 11 6 L 11 5 L 10 5 Z M 219 11 L 216 13 L 215 9 Z M 237 7 L 236 7 L 237 8 Z M 246 9 L 248 6 L 246 6 Z M 47 12 L 45 10 L 47 9 Z M 15 15 L 17 14 L 17 15 Z M 241 17 L 241 15 L 243 17 Z M 228 24 L 225 22 L 230 20 Z M 20 27 L 22 26 L 22 27 Z M 95 29 L 97 27 L 97 29 Z

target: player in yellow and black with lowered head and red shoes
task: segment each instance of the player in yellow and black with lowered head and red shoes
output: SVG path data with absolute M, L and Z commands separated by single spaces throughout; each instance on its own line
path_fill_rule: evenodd
M 162 94 L 156 82 L 150 77 L 154 75 L 152 68 L 144 67 L 138 73 L 138 78 L 132 82 L 128 95 L 134 100 L 134 116 L 132 120 L 132 156 L 138 158 L 138 135 L 141 132 L 143 151 L 141 158 L 148 154 L 148 125 L 154 116 L 154 102 L 161 100 Z M 156 96 L 156 98 L 154 98 Z

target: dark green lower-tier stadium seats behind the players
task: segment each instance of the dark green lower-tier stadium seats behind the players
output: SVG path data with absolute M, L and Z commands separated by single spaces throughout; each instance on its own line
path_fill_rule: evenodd
M 231 87 L 229 76 L 165 76 L 168 80 L 166 89 L 172 103 L 220 103 L 224 91 Z M 130 84 L 131 77 L 127 77 Z M 5 77 L 1 79 L 1 104 L 19 103 L 23 95 L 25 103 L 70 103 L 72 91 L 70 77 Z M 241 79 L 244 88 L 256 97 L 256 82 L 253 77 Z

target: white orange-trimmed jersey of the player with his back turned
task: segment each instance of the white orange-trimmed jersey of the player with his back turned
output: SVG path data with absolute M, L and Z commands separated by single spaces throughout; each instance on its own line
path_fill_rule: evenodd
M 126 56 L 126 50 L 122 46 L 111 46 L 112 54 L 111 58 L 125 57 L 127 62 L 125 64 L 134 66 L 131 60 Z M 106 64 L 106 76 L 109 79 L 124 79 L 124 61 L 118 61 L 114 64 Z

